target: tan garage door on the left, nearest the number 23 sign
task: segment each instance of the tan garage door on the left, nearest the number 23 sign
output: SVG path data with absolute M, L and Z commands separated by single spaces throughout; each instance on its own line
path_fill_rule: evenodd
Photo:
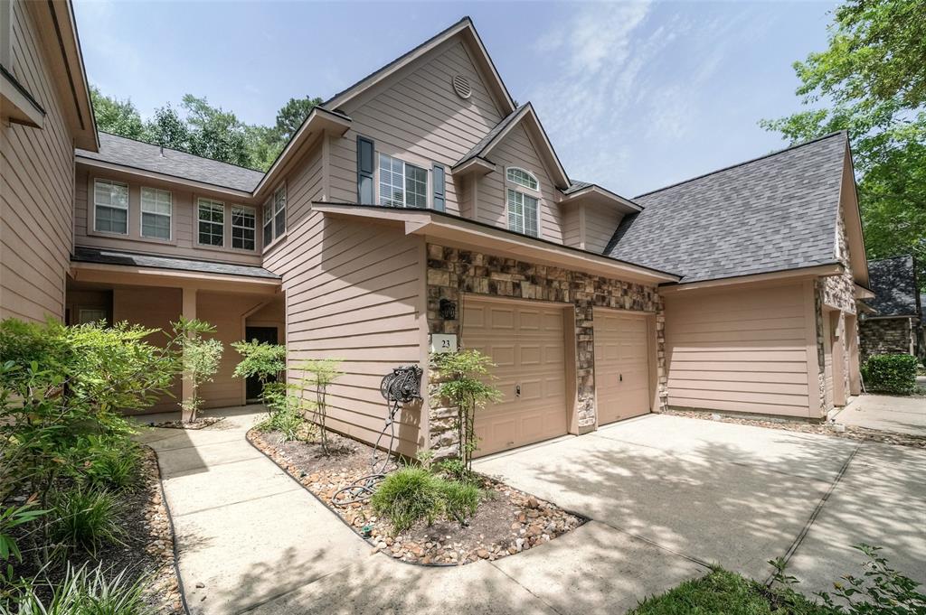
M 563 308 L 537 301 L 463 301 L 462 342 L 492 357 L 502 399 L 476 412 L 476 456 L 566 433 Z

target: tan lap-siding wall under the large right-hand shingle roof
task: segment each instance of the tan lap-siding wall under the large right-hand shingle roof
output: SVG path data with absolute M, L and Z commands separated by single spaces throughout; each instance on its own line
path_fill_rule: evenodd
M 666 296 L 669 406 L 807 416 L 804 287 L 695 293 Z

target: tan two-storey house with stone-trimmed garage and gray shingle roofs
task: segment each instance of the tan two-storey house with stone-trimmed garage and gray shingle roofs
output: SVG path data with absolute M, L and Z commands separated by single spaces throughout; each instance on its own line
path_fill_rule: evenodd
M 302 359 L 341 359 L 328 421 L 351 437 L 375 441 L 382 376 L 432 345 L 497 364 L 478 454 L 670 406 L 820 420 L 858 390 L 870 293 L 845 133 L 626 198 L 569 177 L 463 18 L 316 107 L 266 174 L 75 144 L 72 194 L 43 205 L 72 198 L 73 245 L 35 243 L 70 251 L 66 297 L 5 294 L 2 314 L 195 316 L 225 342 L 285 342 L 294 381 Z M 234 363 L 207 405 L 248 398 Z M 432 388 L 426 369 L 404 453 L 454 450 Z

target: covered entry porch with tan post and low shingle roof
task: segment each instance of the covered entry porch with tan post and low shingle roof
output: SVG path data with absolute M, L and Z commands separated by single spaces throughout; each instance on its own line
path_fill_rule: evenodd
M 257 338 L 285 343 L 282 283 L 266 269 L 237 264 L 145 256 L 128 252 L 78 249 L 72 258 L 66 291 L 69 325 L 106 320 L 170 331 L 181 316 L 216 327 L 224 346 L 219 372 L 201 387 L 204 408 L 244 405 L 259 395 L 254 383 L 232 375 L 240 357 L 232 342 Z M 149 341 L 164 344 L 165 333 Z M 249 387 L 248 384 L 251 386 Z M 190 384 L 178 378 L 171 396 L 145 412 L 180 412 Z

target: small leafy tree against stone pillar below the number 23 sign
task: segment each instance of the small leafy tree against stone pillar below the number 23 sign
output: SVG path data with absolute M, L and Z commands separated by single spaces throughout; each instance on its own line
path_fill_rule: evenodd
M 495 364 L 480 351 L 435 353 L 432 362 L 439 381 L 438 394 L 457 406 L 460 459 L 471 471 L 472 454 L 479 446 L 476 411 L 502 396 L 489 382 L 494 378 L 490 370 Z

